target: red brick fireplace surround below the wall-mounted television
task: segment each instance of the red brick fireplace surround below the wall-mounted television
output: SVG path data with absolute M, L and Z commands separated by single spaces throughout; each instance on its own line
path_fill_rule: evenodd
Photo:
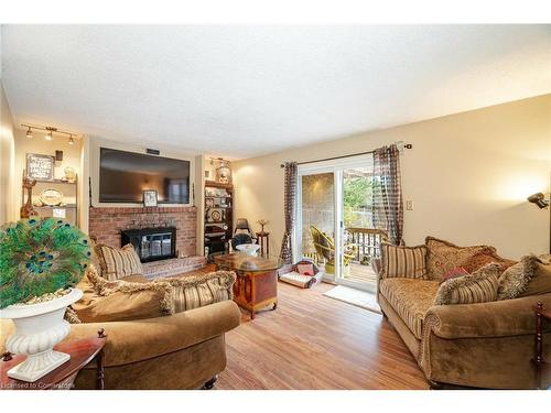
M 120 247 L 121 231 L 175 227 L 177 257 L 196 254 L 197 210 L 195 207 L 90 208 L 89 235 L 99 243 Z

